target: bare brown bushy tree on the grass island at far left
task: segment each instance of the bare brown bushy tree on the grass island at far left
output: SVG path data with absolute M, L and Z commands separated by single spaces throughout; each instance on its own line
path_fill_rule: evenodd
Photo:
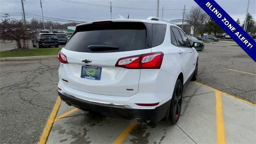
M 21 20 L 4 19 L 0 23 L 0 38 L 3 42 L 16 41 L 18 49 L 28 48 L 29 40 L 31 40 L 35 31 L 24 27 Z

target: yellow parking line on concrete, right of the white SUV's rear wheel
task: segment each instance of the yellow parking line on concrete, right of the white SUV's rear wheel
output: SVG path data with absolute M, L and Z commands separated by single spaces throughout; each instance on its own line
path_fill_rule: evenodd
M 216 101 L 216 138 L 217 144 L 225 144 L 225 128 L 222 112 L 222 101 L 221 101 L 221 92 L 215 90 L 215 101 Z

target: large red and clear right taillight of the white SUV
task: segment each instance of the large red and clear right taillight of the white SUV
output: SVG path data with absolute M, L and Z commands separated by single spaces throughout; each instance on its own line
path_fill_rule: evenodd
M 116 62 L 117 67 L 128 69 L 159 69 L 162 65 L 164 53 L 152 52 L 136 56 L 120 58 Z

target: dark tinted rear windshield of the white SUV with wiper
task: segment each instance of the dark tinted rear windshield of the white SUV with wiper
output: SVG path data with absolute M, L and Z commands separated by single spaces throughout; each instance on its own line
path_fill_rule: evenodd
M 94 22 L 76 28 L 65 46 L 76 52 L 124 52 L 146 48 L 142 22 Z

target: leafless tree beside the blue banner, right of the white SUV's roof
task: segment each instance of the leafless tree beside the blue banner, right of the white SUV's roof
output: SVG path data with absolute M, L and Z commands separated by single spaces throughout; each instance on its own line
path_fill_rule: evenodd
M 196 32 L 208 22 L 210 17 L 199 6 L 193 6 L 185 18 L 190 21 L 195 36 Z

